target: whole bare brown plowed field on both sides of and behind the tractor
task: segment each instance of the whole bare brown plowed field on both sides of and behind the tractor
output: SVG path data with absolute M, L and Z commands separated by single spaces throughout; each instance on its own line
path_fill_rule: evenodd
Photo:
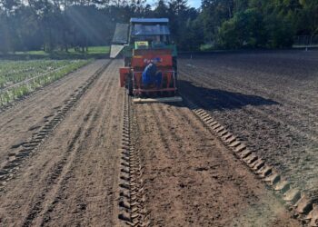
M 315 194 L 317 61 L 315 52 L 184 58 L 181 94 Z M 88 64 L 0 113 L 1 226 L 300 225 L 186 103 L 129 103 L 122 64 Z M 123 156 L 126 141 L 134 155 Z M 123 211 L 138 215 L 123 221 Z

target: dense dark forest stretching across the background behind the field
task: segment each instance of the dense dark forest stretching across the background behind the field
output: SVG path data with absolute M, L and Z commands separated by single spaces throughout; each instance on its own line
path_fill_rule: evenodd
M 116 23 L 168 17 L 182 50 L 283 48 L 318 35 L 318 0 L 0 0 L 0 52 L 111 44 Z

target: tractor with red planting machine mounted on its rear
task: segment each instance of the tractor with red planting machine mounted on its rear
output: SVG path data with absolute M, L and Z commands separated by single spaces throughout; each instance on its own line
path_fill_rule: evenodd
M 127 44 L 117 45 L 115 52 L 124 54 L 124 67 L 119 69 L 120 85 L 134 96 L 134 103 L 182 101 L 177 88 L 176 48 L 170 40 L 168 22 L 166 18 L 132 18 L 126 26 Z M 115 34 L 123 34 L 117 27 Z M 150 63 L 156 65 L 162 77 L 160 84 L 143 83 L 144 69 Z

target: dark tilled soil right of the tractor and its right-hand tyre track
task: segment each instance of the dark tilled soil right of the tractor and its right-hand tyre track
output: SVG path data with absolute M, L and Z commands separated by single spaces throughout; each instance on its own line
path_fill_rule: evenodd
M 183 59 L 181 89 L 299 189 L 318 193 L 318 52 Z

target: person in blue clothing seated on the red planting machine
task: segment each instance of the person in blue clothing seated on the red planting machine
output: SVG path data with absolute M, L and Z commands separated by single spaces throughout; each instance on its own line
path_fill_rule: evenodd
M 151 60 L 144 68 L 144 72 L 142 74 L 144 87 L 149 87 L 149 85 L 155 84 L 156 88 L 160 88 L 163 74 L 157 70 L 157 62 L 157 59 Z

